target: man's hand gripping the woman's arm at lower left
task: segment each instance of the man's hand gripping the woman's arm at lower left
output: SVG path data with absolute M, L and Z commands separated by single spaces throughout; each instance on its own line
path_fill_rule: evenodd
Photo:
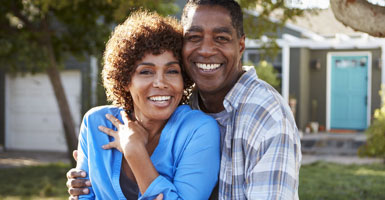
M 77 160 L 77 150 L 73 152 L 74 159 Z M 78 179 L 86 177 L 86 172 L 72 168 L 67 172 L 67 187 L 70 194 L 69 200 L 77 200 L 79 195 L 88 194 L 91 182 L 88 179 Z

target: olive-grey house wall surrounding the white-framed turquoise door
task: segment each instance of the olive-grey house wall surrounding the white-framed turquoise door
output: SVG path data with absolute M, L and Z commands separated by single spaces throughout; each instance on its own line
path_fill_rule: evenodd
M 309 107 L 308 115 L 309 121 L 318 121 L 320 125 L 326 125 L 326 83 L 327 83 L 327 53 L 328 52 L 356 52 L 356 51 L 369 51 L 372 54 L 372 90 L 371 90 L 371 115 L 374 110 L 381 105 L 381 98 L 378 95 L 378 91 L 381 88 L 381 70 L 378 66 L 378 59 L 381 56 L 380 49 L 328 49 L 328 50 L 311 50 L 309 62 L 313 60 L 319 60 L 321 64 L 320 69 L 310 68 L 310 92 L 309 92 Z M 317 101 L 317 108 L 315 113 L 312 112 L 312 101 Z M 301 107 L 302 109 L 303 107 Z

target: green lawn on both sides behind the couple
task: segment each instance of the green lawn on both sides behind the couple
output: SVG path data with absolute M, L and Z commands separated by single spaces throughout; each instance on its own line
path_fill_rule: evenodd
M 0 199 L 67 199 L 67 164 L 0 169 Z M 300 199 L 385 199 L 385 165 L 318 162 L 301 167 Z

